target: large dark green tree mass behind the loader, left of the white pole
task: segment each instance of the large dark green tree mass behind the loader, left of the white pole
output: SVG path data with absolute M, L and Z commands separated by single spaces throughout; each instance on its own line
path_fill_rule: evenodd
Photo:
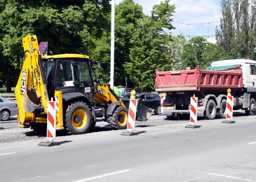
M 109 0 L 0 0 L 0 8 L 0 52 L 6 66 L 7 92 L 10 92 L 10 78 L 14 73 L 11 70 L 17 69 L 21 61 L 21 40 L 27 34 L 36 34 L 38 41 L 48 41 L 49 54 L 90 55 L 93 52 L 97 55 L 93 51 L 98 47 L 97 42 L 109 41 L 105 38 L 106 30 L 98 22 L 108 20 Z M 101 57 L 108 54 L 107 49 L 98 50 Z

